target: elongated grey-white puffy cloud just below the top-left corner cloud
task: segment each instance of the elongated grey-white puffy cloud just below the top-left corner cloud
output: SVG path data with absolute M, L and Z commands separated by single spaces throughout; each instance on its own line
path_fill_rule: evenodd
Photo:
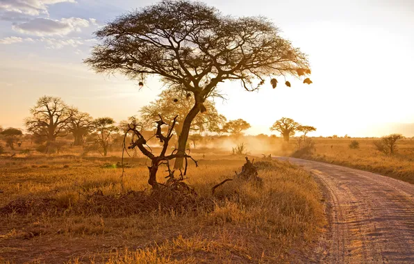
M 81 28 L 86 28 L 91 23 L 79 17 L 63 18 L 60 20 L 36 18 L 22 24 L 14 24 L 12 28 L 19 33 L 43 37 L 47 35 L 67 35 L 73 31 L 79 32 Z

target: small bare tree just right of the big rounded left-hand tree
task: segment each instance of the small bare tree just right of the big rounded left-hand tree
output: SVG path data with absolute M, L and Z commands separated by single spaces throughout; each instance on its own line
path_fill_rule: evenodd
M 92 129 L 92 117 L 76 108 L 72 108 L 72 115 L 69 118 L 68 129 L 74 135 L 74 146 L 83 145 L 85 135 Z

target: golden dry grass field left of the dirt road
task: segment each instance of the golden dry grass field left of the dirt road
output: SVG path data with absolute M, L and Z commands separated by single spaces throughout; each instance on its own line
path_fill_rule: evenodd
M 148 198 L 144 158 L 126 159 L 122 190 L 119 153 L 75 152 L 0 158 L 0 263 L 286 263 L 325 223 L 317 184 L 289 163 L 261 163 L 263 188 L 230 181 L 213 196 L 244 157 L 194 154 L 198 195 L 177 206 Z

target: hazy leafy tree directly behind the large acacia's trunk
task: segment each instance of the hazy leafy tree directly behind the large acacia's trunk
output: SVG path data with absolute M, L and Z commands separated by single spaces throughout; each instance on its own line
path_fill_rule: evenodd
M 174 131 L 176 135 L 180 136 L 185 116 L 194 106 L 194 97 L 172 88 L 164 90 L 158 97 L 156 101 L 152 101 L 148 106 L 140 109 L 142 122 L 147 127 L 152 127 L 160 117 L 163 120 L 172 120 L 176 117 Z M 206 111 L 192 120 L 190 130 L 193 132 L 212 131 L 215 126 L 219 126 L 223 122 L 223 116 L 217 113 L 213 101 L 206 100 L 204 106 Z

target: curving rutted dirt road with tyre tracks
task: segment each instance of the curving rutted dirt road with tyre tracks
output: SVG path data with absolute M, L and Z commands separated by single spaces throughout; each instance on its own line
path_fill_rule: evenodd
M 330 223 L 313 262 L 414 263 L 414 185 L 338 165 L 281 159 L 311 171 L 324 190 Z

